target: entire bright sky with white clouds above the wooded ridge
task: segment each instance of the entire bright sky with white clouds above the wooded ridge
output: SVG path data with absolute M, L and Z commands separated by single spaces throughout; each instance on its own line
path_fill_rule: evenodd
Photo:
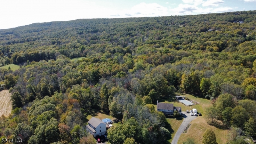
M 256 10 L 256 0 L 0 0 L 0 29 L 37 22 Z

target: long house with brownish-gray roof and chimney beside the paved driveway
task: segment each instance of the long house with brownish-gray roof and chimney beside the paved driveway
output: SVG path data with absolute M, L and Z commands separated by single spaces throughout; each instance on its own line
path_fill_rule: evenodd
M 165 115 L 173 115 L 173 112 L 177 110 L 181 115 L 181 107 L 174 107 L 172 103 L 158 103 L 157 100 L 156 109 L 157 111 L 163 112 Z

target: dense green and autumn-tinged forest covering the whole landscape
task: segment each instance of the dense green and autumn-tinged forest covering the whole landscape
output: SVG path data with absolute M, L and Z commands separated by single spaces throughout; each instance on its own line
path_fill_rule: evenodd
M 207 117 L 230 128 L 227 143 L 245 143 L 256 138 L 255 27 L 256 11 L 243 11 L 1 29 L 0 65 L 20 68 L 0 69 L 13 108 L 0 140 L 90 143 L 86 116 L 102 110 L 120 121 L 111 144 L 165 143 L 171 126 L 152 104 L 185 92 L 212 100 Z

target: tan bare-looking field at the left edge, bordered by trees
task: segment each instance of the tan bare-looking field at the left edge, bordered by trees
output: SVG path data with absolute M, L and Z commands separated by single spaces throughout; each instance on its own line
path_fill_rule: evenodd
M 11 93 L 8 90 L 0 92 L 0 116 L 9 116 L 12 110 Z

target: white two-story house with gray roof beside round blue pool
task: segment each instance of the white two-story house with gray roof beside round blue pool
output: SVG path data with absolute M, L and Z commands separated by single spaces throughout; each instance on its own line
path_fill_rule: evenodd
M 100 119 L 96 117 L 92 117 L 88 121 L 88 125 L 86 125 L 86 129 L 90 132 L 94 137 L 102 136 L 106 134 L 107 128 L 106 123 L 102 122 Z

